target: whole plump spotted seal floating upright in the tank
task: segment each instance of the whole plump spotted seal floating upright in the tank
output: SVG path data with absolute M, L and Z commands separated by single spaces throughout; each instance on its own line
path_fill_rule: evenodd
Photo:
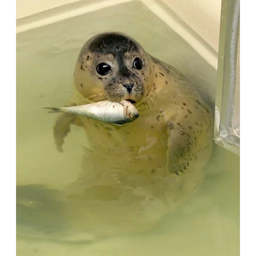
M 65 106 L 130 101 L 139 118 L 123 126 L 68 113 L 53 130 L 59 151 L 70 124 L 89 139 L 61 219 L 92 235 L 142 232 L 193 194 L 213 145 L 211 106 L 177 69 L 147 53 L 120 32 L 94 35 L 74 68 Z

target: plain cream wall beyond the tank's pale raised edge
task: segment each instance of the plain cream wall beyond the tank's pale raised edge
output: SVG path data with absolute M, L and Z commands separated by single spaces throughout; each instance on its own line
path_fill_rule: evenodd
M 16 0 L 16 19 L 60 5 L 78 2 L 79 0 Z M 219 20 L 221 0 L 160 0 L 172 9 L 185 23 L 198 33 L 216 51 L 218 50 Z M 99 0 L 80 0 L 89 4 Z M 113 0 L 103 0 L 113 2 Z M 115 2 L 118 2 L 115 1 Z M 122 2 L 122 0 L 120 0 Z M 148 5 L 152 0 L 142 0 Z

